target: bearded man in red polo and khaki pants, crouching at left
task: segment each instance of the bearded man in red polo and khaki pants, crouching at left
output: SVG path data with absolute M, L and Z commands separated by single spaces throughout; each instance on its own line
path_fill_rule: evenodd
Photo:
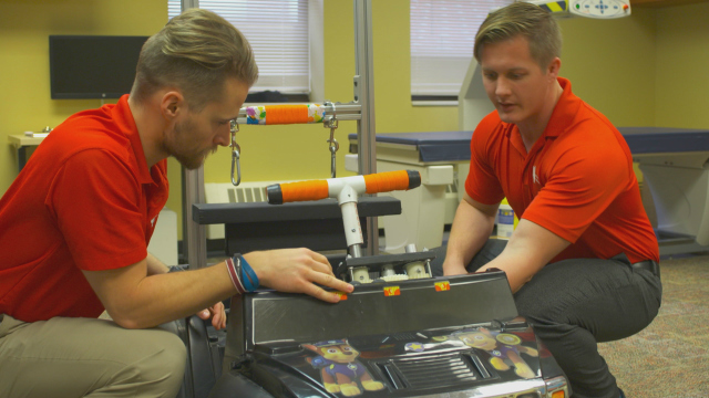
M 352 291 L 307 249 L 175 273 L 147 253 L 166 158 L 197 168 L 227 146 L 257 76 L 238 30 L 185 11 L 146 41 L 129 95 L 39 146 L 0 200 L 1 397 L 174 397 L 185 347 L 155 326 L 199 313 L 222 328 L 220 302 L 259 285 L 332 303 L 318 285 Z

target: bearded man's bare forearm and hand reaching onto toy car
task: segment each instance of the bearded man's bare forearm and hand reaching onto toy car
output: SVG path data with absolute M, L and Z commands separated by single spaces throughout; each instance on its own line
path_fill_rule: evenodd
M 352 285 L 332 274 L 327 258 L 309 249 L 246 253 L 258 282 L 281 292 L 306 293 L 337 303 Z M 104 271 L 83 271 L 109 314 L 121 326 L 144 328 L 188 316 L 237 293 L 225 262 L 187 272 L 147 274 L 147 259 Z

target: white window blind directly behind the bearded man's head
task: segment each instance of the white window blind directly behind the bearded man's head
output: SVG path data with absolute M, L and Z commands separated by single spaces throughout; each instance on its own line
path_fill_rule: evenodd
M 199 0 L 199 8 L 232 22 L 254 49 L 259 77 L 250 92 L 310 92 L 308 0 Z M 168 18 L 181 12 L 167 1 Z

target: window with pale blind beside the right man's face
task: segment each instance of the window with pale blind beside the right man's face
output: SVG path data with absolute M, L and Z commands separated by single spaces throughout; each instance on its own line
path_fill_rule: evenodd
M 454 105 L 487 13 L 512 0 L 411 0 L 411 100 Z

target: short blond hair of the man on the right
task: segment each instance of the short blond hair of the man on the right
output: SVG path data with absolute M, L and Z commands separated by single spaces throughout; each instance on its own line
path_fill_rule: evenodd
M 530 54 L 545 69 L 562 54 L 562 31 L 551 12 L 528 2 L 514 2 L 491 12 L 475 35 L 473 54 L 480 63 L 485 44 L 523 35 L 530 42 Z

